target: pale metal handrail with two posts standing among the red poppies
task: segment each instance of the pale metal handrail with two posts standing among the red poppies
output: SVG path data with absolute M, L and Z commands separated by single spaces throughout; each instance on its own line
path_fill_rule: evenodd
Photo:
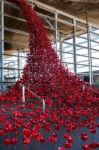
M 43 112 L 45 112 L 45 107 L 46 107 L 45 100 L 40 98 L 36 93 L 31 91 L 24 84 L 20 84 L 20 85 L 22 86 L 22 100 L 23 100 L 23 103 L 25 103 L 25 101 L 26 101 L 26 99 L 25 99 L 25 89 L 27 89 L 30 93 L 32 93 L 35 97 L 37 97 L 39 100 L 42 101 L 42 103 L 43 103 Z

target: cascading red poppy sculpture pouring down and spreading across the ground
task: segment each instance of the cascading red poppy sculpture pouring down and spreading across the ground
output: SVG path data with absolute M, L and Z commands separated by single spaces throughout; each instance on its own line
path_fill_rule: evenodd
M 59 145 L 57 150 L 72 149 L 75 142 L 71 136 L 73 131 L 84 127 L 92 136 L 96 134 L 99 127 L 99 91 L 62 65 L 41 19 L 31 6 L 25 0 L 9 1 L 20 7 L 27 21 L 30 52 L 20 80 L 8 92 L 0 94 L 0 137 L 6 136 L 2 143 L 16 145 L 21 134 L 24 145 L 33 140 L 40 144 L 46 141 L 55 144 L 60 136 L 57 133 L 64 128 L 64 144 Z M 22 84 L 45 100 L 45 112 L 42 112 L 39 100 L 34 99 L 35 95 L 29 91 L 26 91 L 26 99 L 32 99 L 32 102 L 21 103 Z M 52 134 L 49 135 L 49 132 Z M 43 133 L 49 137 L 45 138 Z M 10 138 L 9 134 L 13 137 Z M 82 132 L 80 137 L 82 142 L 89 138 L 86 132 Z M 82 149 L 91 148 L 99 148 L 99 142 L 82 143 Z

